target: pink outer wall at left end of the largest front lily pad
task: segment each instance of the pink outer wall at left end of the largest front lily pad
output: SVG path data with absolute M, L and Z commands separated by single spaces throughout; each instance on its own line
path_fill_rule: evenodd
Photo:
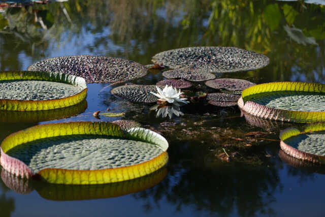
M 2 148 L 1 149 L 1 158 L 0 163 L 5 170 L 10 173 L 20 176 L 22 178 L 30 178 L 33 174 L 30 171 L 29 167 L 22 161 L 12 158 L 6 154 Z

